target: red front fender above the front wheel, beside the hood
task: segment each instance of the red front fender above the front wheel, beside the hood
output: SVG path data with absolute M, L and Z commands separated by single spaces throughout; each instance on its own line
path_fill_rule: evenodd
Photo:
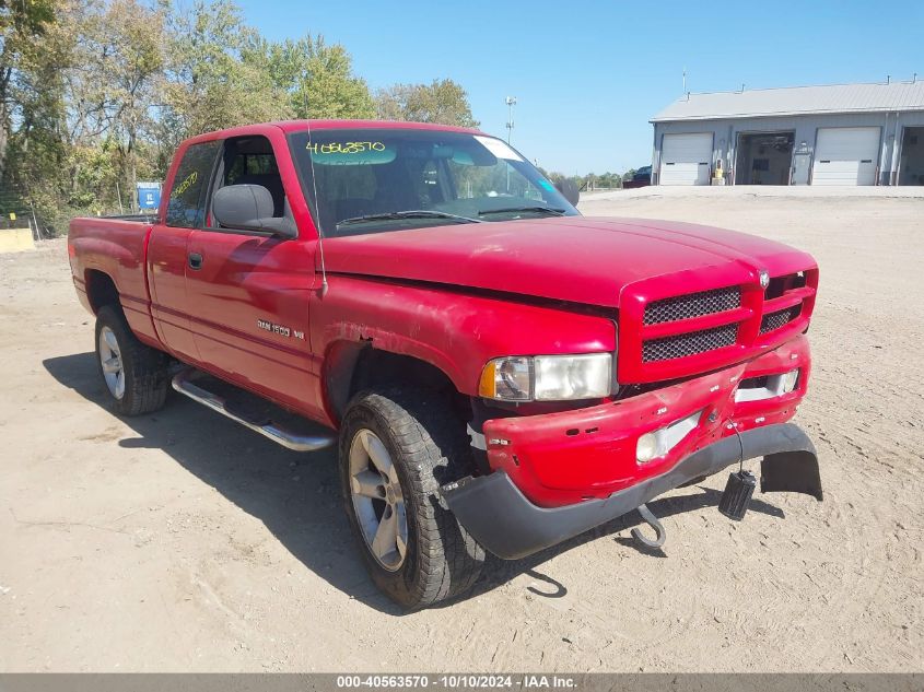
M 314 295 L 311 310 L 314 353 L 371 342 L 433 365 L 470 396 L 494 357 L 616 350 L 607 317 L 374 277 L 328 274 L 328 290 Z

